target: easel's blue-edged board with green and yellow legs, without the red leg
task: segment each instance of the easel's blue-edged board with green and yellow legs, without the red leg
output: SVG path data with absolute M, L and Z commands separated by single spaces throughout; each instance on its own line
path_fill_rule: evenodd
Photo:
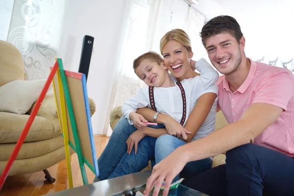
M 66 154 L 70 154 L 69 147 L 66 146 L 69 145 L 77 153 L 85 185 L 88 184 L 88 180 L 84 164 L 97 176 L 99 175 L 86 77 L 83 73 L 65 71 L 61 59 L 57 59 L 57 62 L 59 70 L 57 70 L 57 74 L 53 78 L 53 87 L 59 120 L 63 130 L 65 150 Z M 62 92 L 64 92 L 65 99 Z M 81 104 L 82 102 L 84 104 Z M 88 131 L 85 131 L 85 129 Z M 66 130 L 68 130 L 68 136 L 65 134 Z M 69 164 L 70 161 L 67 161 L 69 181 L 72 181 L 70 179 L 71 169 Z

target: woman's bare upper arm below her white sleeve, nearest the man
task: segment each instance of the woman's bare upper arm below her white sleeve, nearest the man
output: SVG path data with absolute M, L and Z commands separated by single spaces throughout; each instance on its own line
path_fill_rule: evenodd
M 205 93 L 198 98 L 196 105 L 189 115 L 184 126 L 188 131 L 191 132 L 191 134 L 188 135 L 187 140 L 181 138 L 182 140 L 187 143 L 191 142 L 191 140 L 199 130 L 200 126 L 205 121 L 207 115 L 209 114 L 216 98 L 217 94 L 215 93 Z

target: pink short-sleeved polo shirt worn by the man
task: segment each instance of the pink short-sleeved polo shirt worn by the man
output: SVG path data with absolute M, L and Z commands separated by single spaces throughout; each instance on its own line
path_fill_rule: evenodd
M 224 75 L 217 81 L 221 111 L 228 123 L 234 123 L 252 103 L 281 107 L 283 112 L 277 121 L 256 137 L 254 144 L 294 157 L 294 74 L 285 68 L 249 60 L 249 73 L 236 92 L 230 91 Z

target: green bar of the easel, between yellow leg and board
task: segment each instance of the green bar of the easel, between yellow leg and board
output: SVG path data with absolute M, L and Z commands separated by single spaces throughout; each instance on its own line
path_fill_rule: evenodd
M 61 81 L 62 81 L 63 90 L 64 90 L 64 97 L 65 97 L 65 101 L 66 101 L 66 104 L 68 107 L 68 112 L 69 112 L 70 121 L 71 121 L 71 125 L 72 125 L 73 139 L 74 139 L 74 144 L 76 147 L 77 158 L 78 158 L 78 162 L 79 162 L 81 173 L 82 173 L 83 183 L 84 183 L 84 185 L 86 185 L 86 184 L 88 184 L 87 173 L 85 170 L 85 162 L 84 162 L 82 149 L 81 149 L 81 145 L 80 145 L 80 141 L 79 141 L 79 137 L 78 137 L 78 133 L 77 133 L 76 123 L 75 123 L 75 118 L 74 118 L 74 113 L 73 113 L 73 104 L 72 104 L 72 100 L 70 97 L 70 91 L 69 91 L 68 83 L 66 80 L 65 72 L 63 69 L 62 60 L 60 58 L 58 58 L 57 62 L 59 65 L 60 76 L 61 76 Z

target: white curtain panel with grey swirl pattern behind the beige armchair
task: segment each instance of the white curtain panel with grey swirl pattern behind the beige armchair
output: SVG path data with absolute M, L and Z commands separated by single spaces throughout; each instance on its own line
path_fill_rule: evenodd
M 45 79 L 60 48 L 66 0 L 14 0 L 7 41 L 20 50 L 26 78 Z

